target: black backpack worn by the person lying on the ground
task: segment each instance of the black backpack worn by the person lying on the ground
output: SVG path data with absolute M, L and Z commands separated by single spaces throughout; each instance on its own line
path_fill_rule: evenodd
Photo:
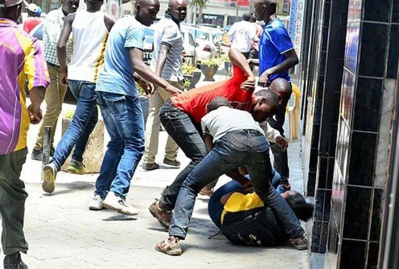
M 288 239 L 273 211 L 267 207 L 227 212 L 221 231 L 233 244 L 244 246 L 272 247 Z

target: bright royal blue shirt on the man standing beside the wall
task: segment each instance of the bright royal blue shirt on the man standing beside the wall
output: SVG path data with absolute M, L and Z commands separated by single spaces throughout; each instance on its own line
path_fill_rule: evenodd
M 267 23 L 263 28 L 263 34 L 259 41 L 259 75 L 270 67 L 283 62 L 286 59 L 284 53 L 293 48 L 287 29 L 279 19 Z M 288 70 L 270 75 L 269 82 L 279 77 L 291 82 Z

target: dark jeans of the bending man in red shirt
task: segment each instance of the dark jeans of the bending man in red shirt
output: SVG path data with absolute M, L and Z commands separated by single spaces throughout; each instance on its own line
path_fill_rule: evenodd
M 176 108 L 170 101 L 165 102 L 161 107 L 159 116 L 165 130 L 175 140 L 186 156 L 191 159 L 189 165 L 164 190 L 160 199 L 163 208 L 173 210 L 183 182 L 206 156 L 208 150 L 200 135 L 198 124 L 195 125 L 187 113 Z M 213 180 L 216 178 L 213 178 Z

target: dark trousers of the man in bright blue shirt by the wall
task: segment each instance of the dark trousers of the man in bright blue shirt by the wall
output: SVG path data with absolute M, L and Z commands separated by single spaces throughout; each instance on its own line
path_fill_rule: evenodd
M 276 120 L 272 117 L 267 119 L 270 126 L 279 131 L 282 136 L 284 136 L 283 125 L 285 121 L 286 107 L 287 105 L 283 105 L 283 108 L 279 108 L 275 115 Z M 288 151 L 281 151 L 280 146 L 276 143 L 270 143 L 270 148 L 274 156 L 273 167 L 281 175 L 281 184 L 287 184 L 290 176 L 290 170 L 288 167 Z

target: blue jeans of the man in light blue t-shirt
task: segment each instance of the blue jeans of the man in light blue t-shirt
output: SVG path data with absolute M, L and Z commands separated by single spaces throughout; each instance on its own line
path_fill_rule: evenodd
M 96 181 L 95 194 L 107 192 L 125 198 L 130 181 L 144 154 L 144 118 L 138 96 L 97 93 L 97 102 L 111 140 Z

